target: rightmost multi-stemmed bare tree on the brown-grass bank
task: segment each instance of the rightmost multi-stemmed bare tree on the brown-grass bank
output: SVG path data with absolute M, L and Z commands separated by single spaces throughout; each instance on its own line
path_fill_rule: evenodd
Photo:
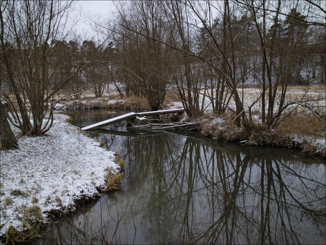
M 262 122 L 274 128 L 282 121 L 283 108 L 288 107 L 288 85 L 292 82 L 309 88 L 316 82 L 311 79 L 315 76 L 313 70 L 316 69 L 311 56 L 318 54 L 319 50 L 311 48 L 315 43 L 311 37 L 314 36 L 314 27 L 324 25 L 314 20 L 316 14 L 319 16 L 320 9 L 313 8 L 310 1 L 297 4 L 277 1 L 274 5 L 274 2 L 263 0 L 237 4 L 248 9 L 259 34 L 262 57 L 259 67 L 262 67 L 262 74 L 258 80 L 261 86 Z M 309 65 L 304 67 L 307 60 Z M 307 73 L 305 77 L 301 75 Z

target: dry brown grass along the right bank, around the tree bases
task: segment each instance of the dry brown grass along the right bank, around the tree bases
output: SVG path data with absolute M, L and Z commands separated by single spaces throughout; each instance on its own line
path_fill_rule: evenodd
M 324 124 L 326 121 L 325 111 L 318 112 Z M 214 118 L 218 118 L 216 122 Z M 261 123 L 252 123 L 251 133 L 238 128 L 234 124 L 234 115 L 224 113 L 221 115 L 204 115 L 197 118 L 200 121 L 199 130 L 206 137 L 223 141 L 243 141 L 246 145 L 275 146 L 299 149 L 302 152 L 321 158 L 325 158 L 325 151 L 317 149 L 309 143 L 310 137 L 325 137 L 325 130 L 322 129 L 318 118 L 310 112 L 296 111 L 286 117 L 281 124 L 271 130 Z M 296 140 L 299 136 L 301 140 Z M 308 138 L 304 140 L 304 136 Z

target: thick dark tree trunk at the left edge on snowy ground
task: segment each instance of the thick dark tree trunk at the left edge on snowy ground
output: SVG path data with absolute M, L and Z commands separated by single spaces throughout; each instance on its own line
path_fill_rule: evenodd
M 5 107 L 0 101 L 0 140 L 2 149 L 17 149 L 18 143 L 7 120 Z

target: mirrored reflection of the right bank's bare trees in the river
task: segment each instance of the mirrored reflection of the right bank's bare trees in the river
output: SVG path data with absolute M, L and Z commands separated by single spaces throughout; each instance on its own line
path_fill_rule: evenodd
M 146 224 L 154 242 L 290 244 L 325 231 L 325 173 L 314 179 L 290 161 L 193 138 L 183 148 L 170 135 L 125 145 L 129 161 L 154 164 L 138 166 L 150 175 L 140 193 L 150 195 Z

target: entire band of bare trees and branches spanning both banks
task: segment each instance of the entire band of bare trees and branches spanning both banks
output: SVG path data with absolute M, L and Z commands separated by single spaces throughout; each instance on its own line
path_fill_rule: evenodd
M 67 31 L 71 2 L 1 1 L 1 100 L 14 126 L 43 134 L 59 99 L 86 89 L 101 97 L 109 84 L 152 110 L 169 90 L 188 116 L 231 111 L 249 132 L 254 105 L 269 128 L 297 106 L 316 114 L 304 96 L 294 103 L 286 95 L 289 85 L 325 84 L 322 1 L 117 4 L 113 22 L 96 23 L 104 41 L 95 42 Z M 248 84 L 259 88 L 249 105 Z

